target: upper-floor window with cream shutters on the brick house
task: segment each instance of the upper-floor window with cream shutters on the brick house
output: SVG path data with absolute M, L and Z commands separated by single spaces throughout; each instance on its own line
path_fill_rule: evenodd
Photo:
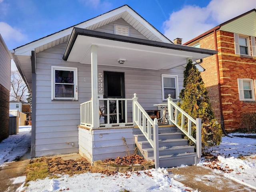
M 234 33 L 234 42 L 235 42 L 235 53 L 237 55 L 251 56 L 250 38 L 249 37 L 240 36 L 240 35 Z M 255 38 L 254 38 L 254 43 L 255 43 Z

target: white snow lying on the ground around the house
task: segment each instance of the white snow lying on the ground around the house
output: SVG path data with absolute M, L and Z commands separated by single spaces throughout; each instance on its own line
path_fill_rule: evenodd
M 216 166 L 229 170 L 222 174 L 256 189 L 256 139 L 240 138 L 233 134 L 233 138 L 222 137 L 220 146 L 208 148 L 208 152 L 218 156 Z M 256 135 L 256 134 L 254 134 Z M 4 162 L 13 161 L 17 156 L 26 153 L 30 146 L 31 126 L 20 126 L 17 135 L 9 136 L 0 143 L 0 166 Z M 245 158 L 245 159 L 244 159 Z M 203 158 L 198 166 L 207 164 Z M 220 172 L 220 170 L 216 170 Z M 136 191 L 171 191 L 185 192 L 191 190 L 180 182 L 171 178 L 165 168 L 151 169 L 146 171 L 129 172 L 130 176 L 118 173 L 114 176 L 106 176 L 99 173 L 84 173 L 69 177 L 62 175 L 60 178 L 37 180 L 30 182 L 28 187 L 24 183 L 18 191 L 28 192 L 53 192 L 64 191 L 112 191 L 120 192 L 124 189 Z M 152 176 L 151 176 L 152 175 Z M 177 175 L 178 177 L 178 175 Z M 13 178 L 13 182 L 25 180 L 24 177 Z M 198 192 L 197 190 L 191 190 Z

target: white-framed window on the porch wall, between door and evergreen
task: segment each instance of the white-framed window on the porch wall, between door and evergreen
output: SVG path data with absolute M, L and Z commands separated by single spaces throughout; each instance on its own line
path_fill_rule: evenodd
M 171 98 L 178 98 L 178 76 L 162 74 L 162 99 L 167 100 L 168 94 Z

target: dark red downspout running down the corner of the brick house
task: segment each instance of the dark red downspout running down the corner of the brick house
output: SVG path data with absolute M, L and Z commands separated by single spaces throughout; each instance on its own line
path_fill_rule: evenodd
M 215 42 L 215 49 L 218 51 L 216 29 L 214 29 L 214 42 Z M 221 118 L 220 125 L 221 125 L 222 132 L 226 136 L 231 137 L 230 135 L 228 135 L 228 133 L 226 132 L 226 130 L 224 128 L 224 119 L 223 119 L 223 112 L 222 112 L 222 100 L 221 100 L 221 91 L 220 91 L 220 69 L 219 69 L 218 53 L 215 54 L 215 57 L 216 57 L 216 65 L 217 65 L 218 90 L 219 90 L 219 98 L 220 98 L 220 118 Z

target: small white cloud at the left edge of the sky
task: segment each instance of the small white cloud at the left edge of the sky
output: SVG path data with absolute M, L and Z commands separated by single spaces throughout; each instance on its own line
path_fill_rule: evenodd
M 5 41 L 12 40 L 22 42 L 27 39 L 26 35 L 22 34 L 19 30 L 12 28 L 5 22 L 0 22 L 0 33 Z

